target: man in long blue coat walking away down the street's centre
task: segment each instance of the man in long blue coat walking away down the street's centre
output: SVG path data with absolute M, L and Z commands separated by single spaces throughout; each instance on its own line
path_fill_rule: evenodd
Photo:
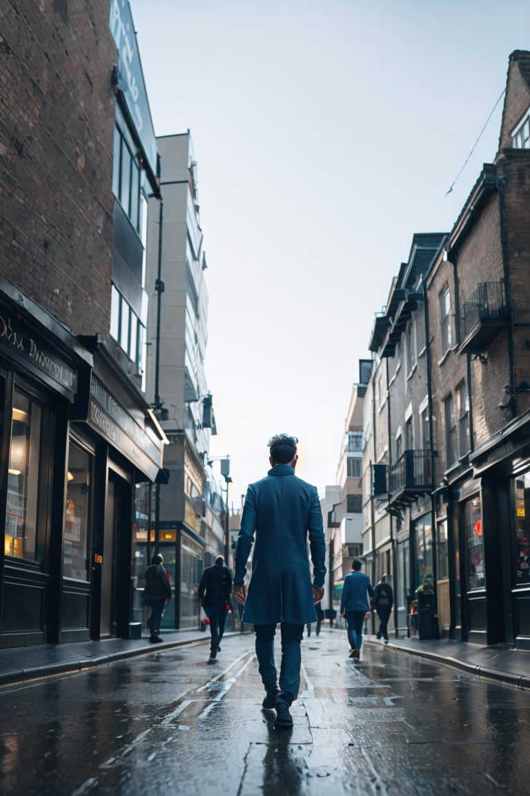
M 289 708 L 300 689 L 300 642 L 304 625 L 316 622 L 323 598 L 326 542 L 315 486 L 295 475 L 298 439 L 279 434 L 269 440 L 271 470 L 250 484 L 235 552 L 234 595 L 245 606 L 242 620 L 253 624 L 256 656 L 265 686 L 264 708 L 275 708 L 275 728 L 291 728 Z M 246 562 L 253 551 L 246 595 Z M 313 579 L 308 560 L 308 537 Z M 274 662 L 274 635 L 281 629 L 280 688 Z

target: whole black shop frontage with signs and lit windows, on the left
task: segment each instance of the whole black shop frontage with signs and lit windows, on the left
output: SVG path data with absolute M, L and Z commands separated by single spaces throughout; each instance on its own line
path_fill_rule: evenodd
M 0 648 L 128 638 L 164 432 L 104 341 L 0 280 Z

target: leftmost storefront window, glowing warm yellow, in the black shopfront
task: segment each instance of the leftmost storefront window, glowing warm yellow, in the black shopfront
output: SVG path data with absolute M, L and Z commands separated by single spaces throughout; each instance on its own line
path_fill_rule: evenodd
M 7 479 L 7 556 L 37 559 L 42 409 L 15 390 Z

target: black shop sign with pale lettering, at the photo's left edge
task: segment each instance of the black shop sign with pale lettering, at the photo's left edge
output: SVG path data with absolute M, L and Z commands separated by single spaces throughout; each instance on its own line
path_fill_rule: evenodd
M 47 341 L 29 329 L 21 318 L 0 315 L 0 349 L 37 373 L 48 384 L 68 394 L 77 391 L 77 371 Z

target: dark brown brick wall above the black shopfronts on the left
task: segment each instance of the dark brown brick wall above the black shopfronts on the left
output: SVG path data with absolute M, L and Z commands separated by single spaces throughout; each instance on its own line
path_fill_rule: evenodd
M 3 0 L 0 271 L 73 334 L 110 326 L 116 61 L 106 0 Z

